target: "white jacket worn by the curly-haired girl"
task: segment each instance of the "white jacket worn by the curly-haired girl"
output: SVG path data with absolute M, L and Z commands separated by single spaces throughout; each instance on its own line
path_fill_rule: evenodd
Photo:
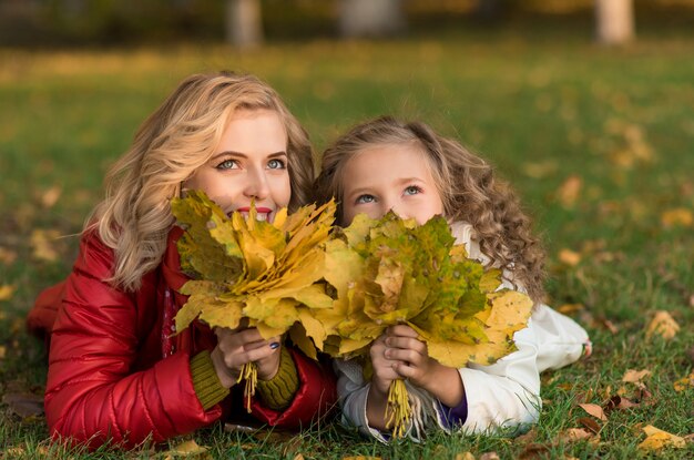
M 489 260 L 472 238 L 473 231 L 469 224 L 455 223 L 451 231 L 457 243 L 466 245 L 471 258 L 482 263 Z M 506 272 L 501 287 L 514 288 Z M 522 290 L 522 287 L 518 289 Z M 588 334 L 581 326 L 542 304 L 535 305 L 528 327 L 517 331 L 513 339 L 518 350 L 493 365 L 471 364 L 458 369 L 468 407 L 468 417 L 460 426 L 463 432 L 493 432 L 537 422 L 542 405 L 540 372 L 574 362 L 584 347 L 590 347 Z M 366 401 L 370 382 L 364 380 L 361 366 L 356 360 L 335 360 L 335 368 L 343 422 L 387 442 L 384 433 L 369 427 Z M 412 408 L 408 436 L 419 440 L 426 430 L 436 427 L 450 431 L 438 399 L 408 381 L 405 385 Z

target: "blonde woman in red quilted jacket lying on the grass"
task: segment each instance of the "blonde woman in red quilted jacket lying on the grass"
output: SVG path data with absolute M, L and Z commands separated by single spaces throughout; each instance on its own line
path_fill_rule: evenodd
M 330 370 L 279 337 L 197 321 L 173 336 L 186 277 L 171 198 L 203 190 L 228 213 L 255 202 L 258 218 L 272 221 L 306 203 L 312 178 L 307 134 L 267 84 L 226 72 L 185 79 L 108 174 L 72 274 L 29 315 L 30 329 L 50 337 L 53 437 L 132 447 L 241 415 L 235 385 L 248 361 L 258 370 L 257 420 L 298 427 L 325 412 L 336 398 Z

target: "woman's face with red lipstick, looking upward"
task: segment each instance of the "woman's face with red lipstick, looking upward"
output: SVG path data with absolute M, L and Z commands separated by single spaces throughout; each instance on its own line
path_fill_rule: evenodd
M 259 221 L 272 222 L 292 196 L 287 132 L 272 110 L 237 110 L 210 161 L 183 183 L 202 190 L 227 214 L 248 215 L 255 201 Z

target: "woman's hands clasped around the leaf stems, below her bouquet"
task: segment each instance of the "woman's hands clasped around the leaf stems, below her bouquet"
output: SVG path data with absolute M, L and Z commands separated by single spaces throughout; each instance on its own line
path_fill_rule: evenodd
M 247 362 L 256 364 L 258 379 L 275 377 L 279 369 L 279 337 L 265 340 L 256 328 L 232 330 L 217 327 L 214 333 L 217 346 L 211 357 L 223 386 L 236 385 L 241 368 Z

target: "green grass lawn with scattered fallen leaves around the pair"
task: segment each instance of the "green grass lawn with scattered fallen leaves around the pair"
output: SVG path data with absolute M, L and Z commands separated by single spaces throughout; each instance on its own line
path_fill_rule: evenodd
M 258 74 L 286 99 L 317 151 L 357 121 L 384 113 L 418 117 L 458 136 L 512 182 L 544 236 L 551 305 L 582 304 L 575 315 L 594 339 L 592 358 L 543 375 L 544 407 L 534 443 L 548 457 L 647 457 L 640 426 L 686 436 L 694 427 L 694 390 L 673 382 L 694 358 L 694 227 L 664 225 L 663 213 L 694 211 L 694 37 L 647 34 L 622 49 L 590 42 L 590 31 L 560 28 L 528 37 L 443 31 L 440 37 L 377 43 L 333 41 L 269 44 L 253 53 L 221 45 L 170 49 L 24 52 L 0 50 L 0 395 L 40 395 L 45 352 L 23 318 L 38 292 L 62 279 L 75 256 L 73 236 L 100 200 L 105 168 L 129 145 L 141 121 L 185 75 L 217 69 Z M 641 132 L 641 140 L 629 133 Z M 642 154 L 646 152 L 646 154 Z M 570 176 L 582 187 L 562 202 Z M 42 196 L 60 187 L 53 206 Z M 34 229 L 57 229 L 55 262 L 32 255 Z M 581 254 L 568 266 L 561 249 Z M 656 310 L 681 326 L 672 340 L 647 339 Z M 611 333 L 604 325 L 616 327 Z M 649 369 L 652 397 L 610 413 L 599 442 L 565 442 L 560 433 L 586 415 L 576 402 L 603 403 L 624 387 L 627 369 Z M 426 442 L 381 446 L 337 425 L 296 437 L 194 435 L 213 458 L 456 458 L 496 451 L 518 458 L 528 442 L 506 437 L 433 435 Z M 172 444 L 180 440 L 172 441 Z M 10 450 L 14 449 L 14 450 Z M 0 406 L 3 458 L 149 458 L 133 452 L 65 451 L 48 442 L 42 417 L 22 419 Z M 662 458 L 691 456 L 666 449 Z M 23 453 L 21 453 L 23 452 Z M 44 452 L 44 453 L 41 453 Z

